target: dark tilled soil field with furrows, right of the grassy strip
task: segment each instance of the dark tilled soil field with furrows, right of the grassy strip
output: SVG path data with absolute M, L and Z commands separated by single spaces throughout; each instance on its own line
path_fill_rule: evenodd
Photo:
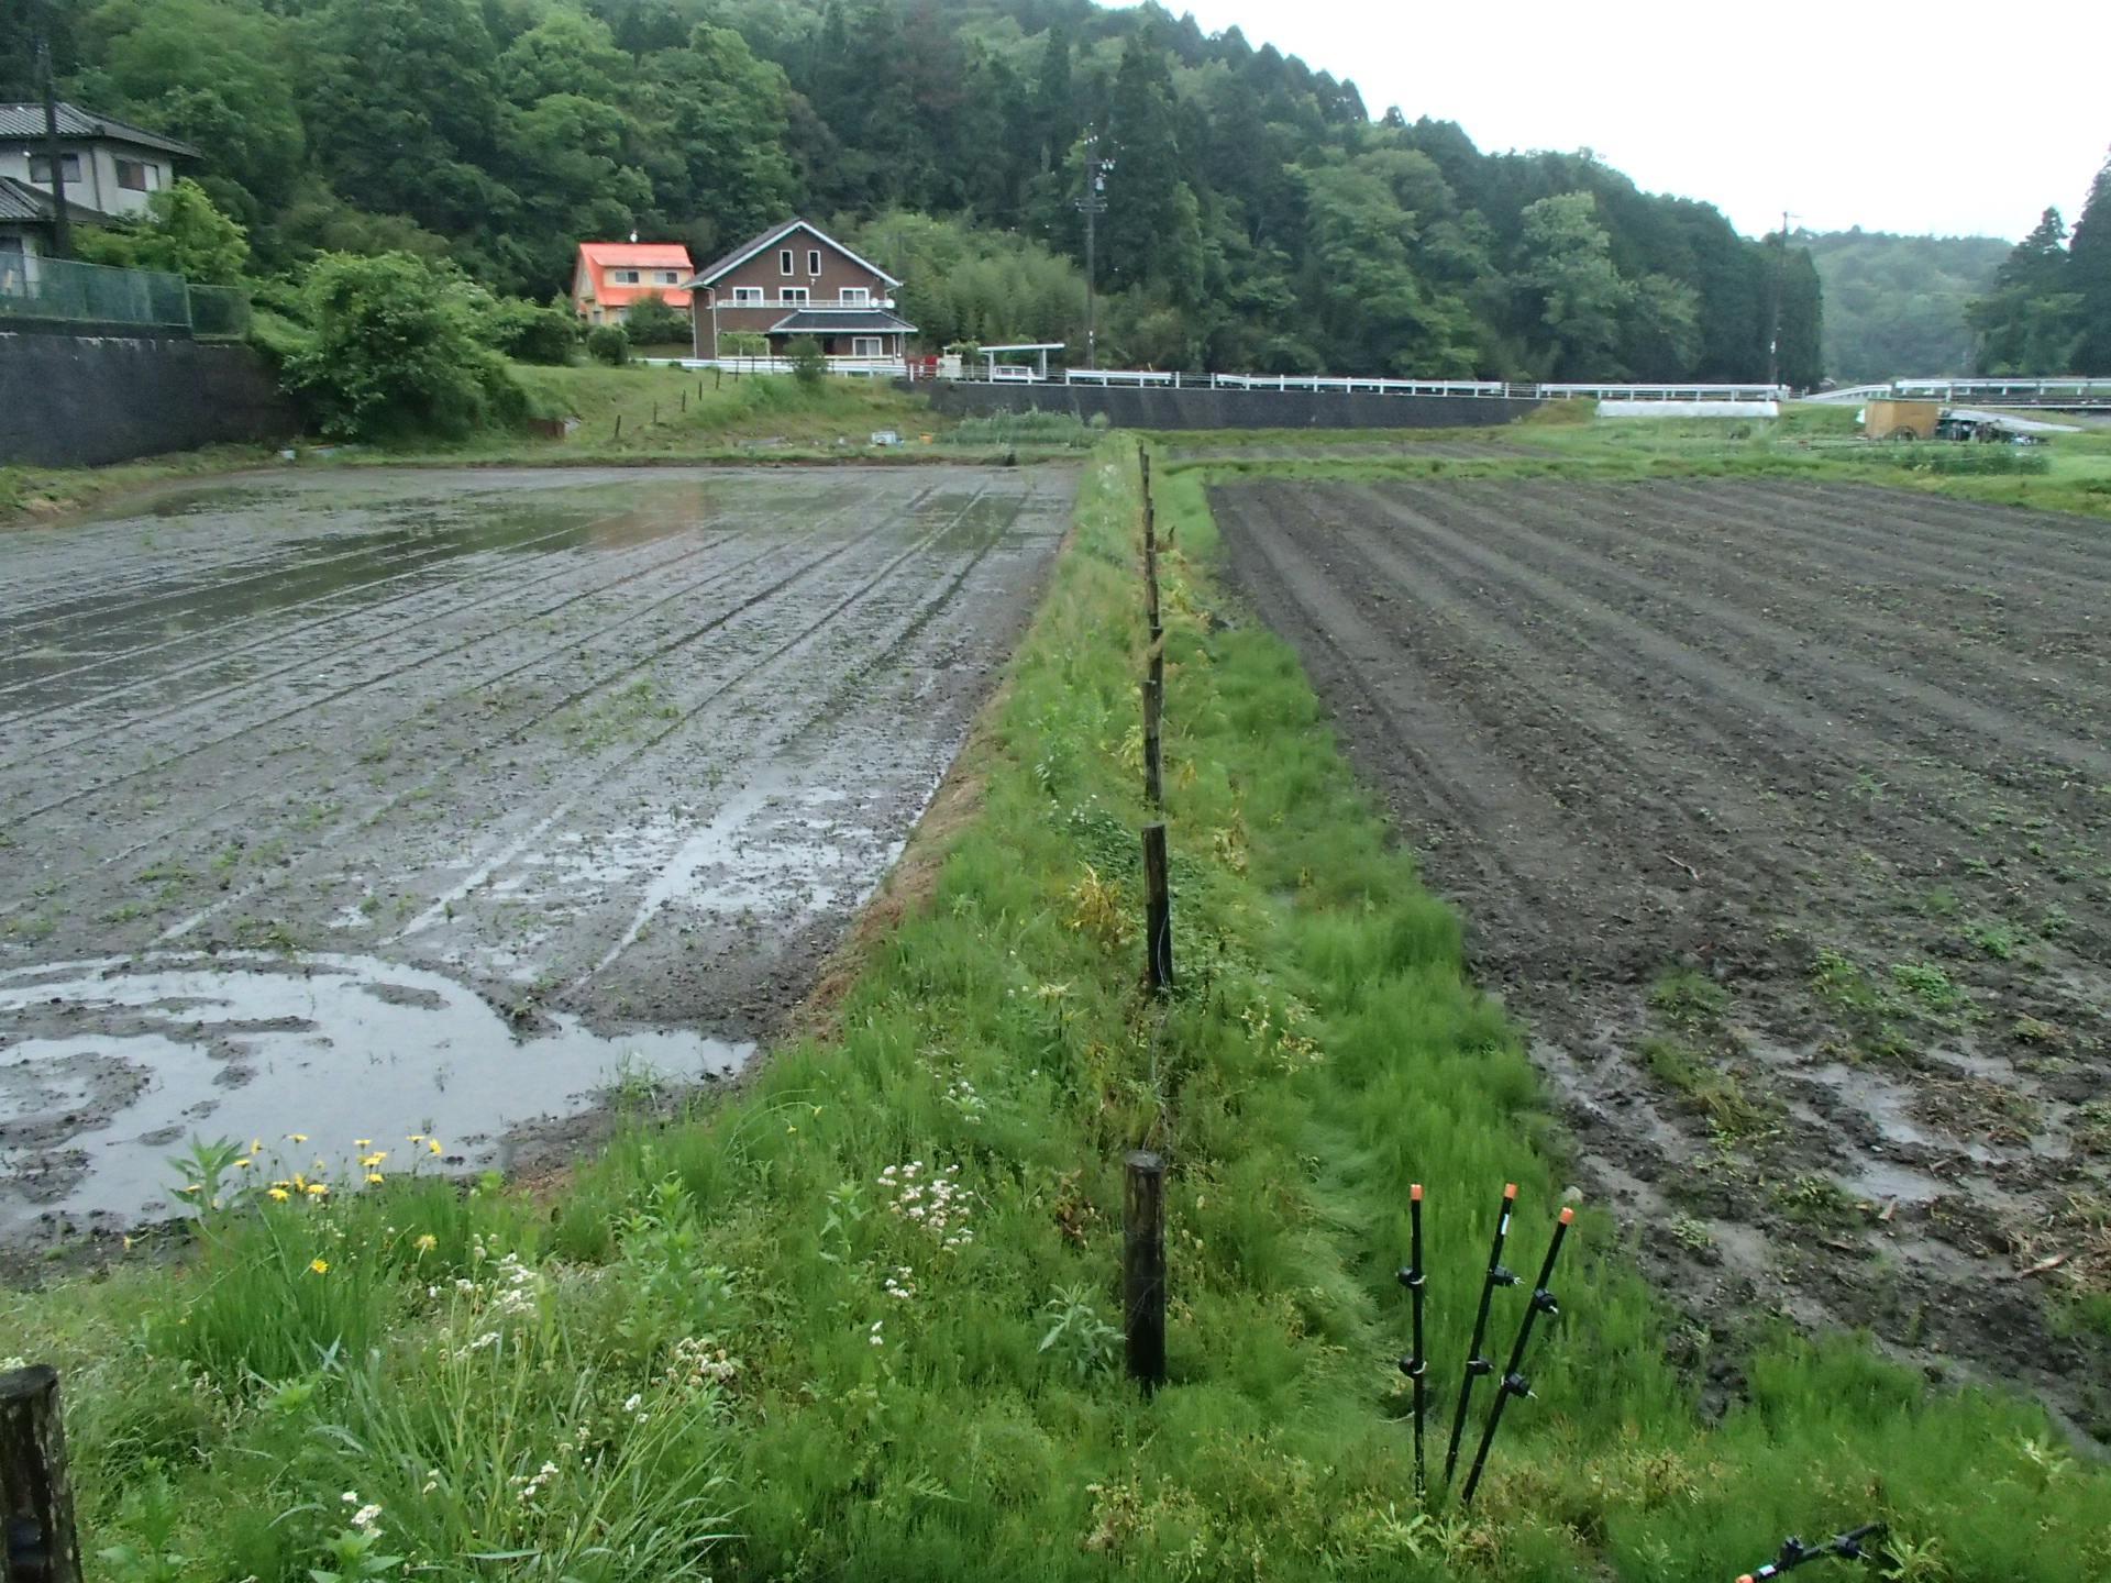
M 1212 504 L 1716 1395 L 1782 1313 L 2111 1439 L 2103 528 L 1799 483 Z

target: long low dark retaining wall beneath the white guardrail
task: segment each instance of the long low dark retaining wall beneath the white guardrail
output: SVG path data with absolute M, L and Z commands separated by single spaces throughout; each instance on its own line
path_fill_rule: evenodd
M 1505 397 L 1393 397 L 1347 390 L 1167 390 L 1098 384 L 904 382 L 948 418 L 999 412 L 1106 414 L 1115 428 L 1492 428 L 1537 401 Z

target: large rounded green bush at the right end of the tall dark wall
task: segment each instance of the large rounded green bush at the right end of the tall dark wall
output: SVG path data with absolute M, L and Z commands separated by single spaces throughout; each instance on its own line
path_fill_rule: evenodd
M 300 291 L 308 325 L 285 382 L 323 433 L 458 439 L 526 416 L 526 395 L 475 333 L 471 289 L 410 253 L 323 253 Z

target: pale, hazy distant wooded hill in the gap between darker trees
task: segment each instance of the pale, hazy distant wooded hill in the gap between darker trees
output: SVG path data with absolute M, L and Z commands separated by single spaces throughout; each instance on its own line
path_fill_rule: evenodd
M 1999 236 L 1796 232 L 1826 289 L 1826 374 L 1841 384 L 1970 374 L 1965 308 L 1993 285 Z

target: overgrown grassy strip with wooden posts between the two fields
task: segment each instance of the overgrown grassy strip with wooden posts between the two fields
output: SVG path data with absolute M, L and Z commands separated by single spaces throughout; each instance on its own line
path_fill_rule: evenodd
M 175 1269 L 4 1302 L 65 1370 L 106 1577 L 1672 1583 L 1887 1518 L 1900 1577 L 2111 1579 L 2111 1488 L 2029 1406 L 1763 1334 L 1699 1425 L 1587 1205 L 1476 1511 L 1416 1509 L 1408 1182 L 1444 1401 L 1499 1184 L 1530 1269 L 1560 1144 L 1294 659 L 1210 616 L 1193 477 L 1161 504 L 1182 986 L 1140 990 L 1131 458 L 1096 454 L 973 815 L 823 1034 L 553 1203 L 293 1184 Z M 1110 1330 L 1142 1140 L 1174 1163 L 1155 1399 Z

